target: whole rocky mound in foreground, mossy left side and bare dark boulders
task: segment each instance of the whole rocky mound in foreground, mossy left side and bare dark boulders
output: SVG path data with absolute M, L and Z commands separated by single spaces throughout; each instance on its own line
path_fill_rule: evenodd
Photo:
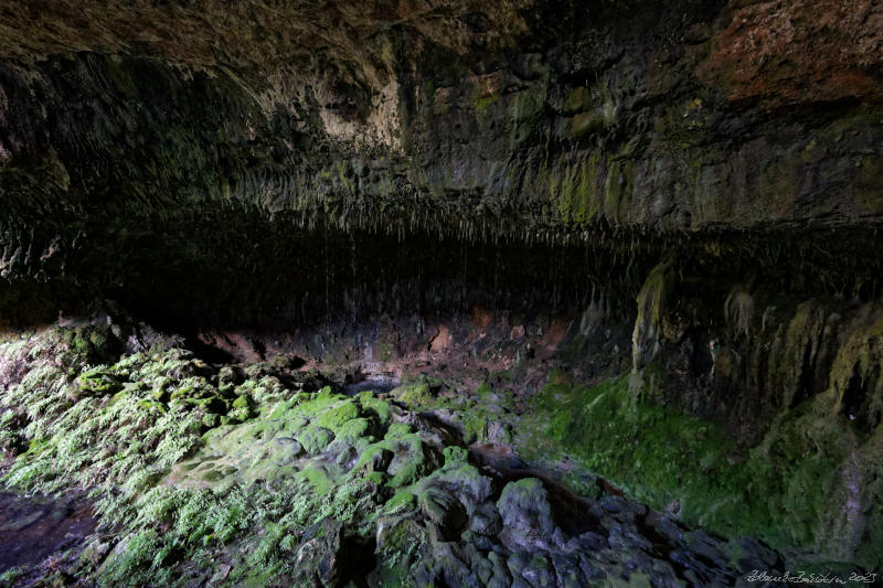
M 6 335 L 6 584 L 748 586 L 794 555 L 529 460 L 533 409 L 511 393 L 360 391 L 151 333 Z

